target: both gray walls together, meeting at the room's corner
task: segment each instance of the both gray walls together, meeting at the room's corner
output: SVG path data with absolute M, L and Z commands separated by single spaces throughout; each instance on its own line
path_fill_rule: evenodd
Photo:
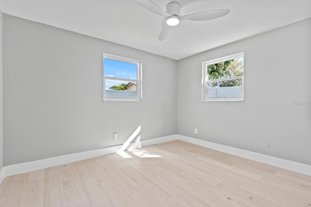
M 139 125 L 142 140 L 178 133 L 310 165 L 310 36 L 307 19 L 177 62 L 3 15 L 4 165 L 118 145 Z M 201 63 L 242 51 L 245 101 L 201 102 Z M 103 52 L 143 62 L 141 102 L 102 101 Z

